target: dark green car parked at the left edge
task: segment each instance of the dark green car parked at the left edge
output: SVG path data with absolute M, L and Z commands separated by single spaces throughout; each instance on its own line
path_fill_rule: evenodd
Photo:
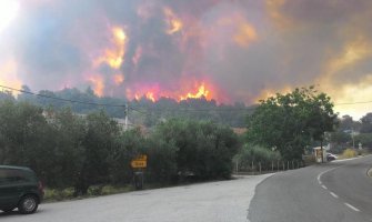
M 42 184 L 31 169 L 0 165 L 0 210 L 33 213 L 42 198 Z

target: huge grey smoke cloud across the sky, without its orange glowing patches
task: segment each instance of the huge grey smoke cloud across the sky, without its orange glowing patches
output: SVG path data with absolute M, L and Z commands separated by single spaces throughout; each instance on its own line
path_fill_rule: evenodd
M 254 102 L 264 90 L 322 83 L 330 61 L 355 36 L 371 46 L 368 0 L 296 0 L 275 8 L 257 0 L 57 0 L 24 1 L 21 7 L 9 48 L 22 82 L 34 90 L 87 87 L 90 74 L 103 77 L 110 95 L 124 95 L 125 89 L 142 83 L 174 91 L 184 79 L 207 79 L 233 101 Z M 164 7 L 184 22 L 179 33 L 165 32 Z M 235 14 L 257 31 L 248 47 L 232 42 L 234 29 L 219 24 Z M 129 37 L 121 85 L 112 82 L 118 70 L 92 68 L 91 62 L 110 44 L 110 26 L 124 27 Z M 188 31 L 194 36 L 185 37 Z M 332 82 L 362 80 L 372 71 L 370 61 L 365 56 L 339 70 Z

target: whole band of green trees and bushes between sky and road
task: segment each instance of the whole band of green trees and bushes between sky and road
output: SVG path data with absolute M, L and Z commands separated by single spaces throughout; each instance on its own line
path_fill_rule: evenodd
M 29 91 L 27 87 L 23 90 Z M 40 94 L 125 103 L 122 99 L 98 98 L 90 89 Z M 1 92 L 0 164 L 32 168 L 48 186 L 47 196 L 64 199 L 130 190 L 130 162 L 139 154 L 149 157 L 147 183 L 161 186 L 228 179 L 233 158 L 240 168 L 249 169 L 252 161 L 300 160 L 304 149 L 325 141 L 336 153 L 359 143 L 372 148 L 372 113 L 360 122 L 349 115 L 336 120 L 330 98 L 312 87 L 278 93 L 261 101 L 252 113 L 243 104 L 218 105 L 203 98 L 181 102 L 142 98 L 129 103 L 133 108 L 130 121 L 151 128 L 124 131 L 112 119 L 123 117 L 123 107 L 97 110 L 94 105 L 64 103 L 24 92 L 17 99 L 10 92 Z M 247 137 L 239 138 L 230 127 L 241 127 L 245 114 Z M 354 150 L 343 153 L 354 155 Z

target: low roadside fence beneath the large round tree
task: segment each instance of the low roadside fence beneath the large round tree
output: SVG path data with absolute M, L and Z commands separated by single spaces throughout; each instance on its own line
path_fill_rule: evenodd
M 274 173 L 279 171 L 294 170 L 299 168 L 303 168 L 303 161 L 271 161 L 271 162 L 261 162 L 261 161 L 252 161 L 251 163 L 239 163 L 235 162 L 234 173 L 235 174 L 263 174 L 263 173 Z

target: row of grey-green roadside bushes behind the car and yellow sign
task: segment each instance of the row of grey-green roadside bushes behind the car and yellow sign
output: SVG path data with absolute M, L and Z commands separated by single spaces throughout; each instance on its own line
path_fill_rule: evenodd
M 71 195 L 70 188 L 78 196 L 130 184 L 138 154 L 148 155 L 147 182 L 227 179 L 238 148 L 230 128 L 209 121 L 172 119 L 144 134 L 123 131 L 103 111 L 82 117 L 68 108 L 0 101 L 0 164 L 30 167 L 57 199 Z

